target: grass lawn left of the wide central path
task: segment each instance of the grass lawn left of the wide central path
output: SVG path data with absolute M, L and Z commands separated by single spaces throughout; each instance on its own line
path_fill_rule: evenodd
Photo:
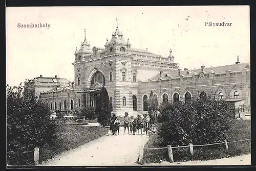
M 80 145 L 88 143 L 105 135 L 109 128 L 103 127 L 82 127 L 79 125 L 60 125 L 55 127 L 56 130 L 56 145 L 45 145 L 39 151 L 39 162 L 46 161 L 52 157 L 75 149 Z

